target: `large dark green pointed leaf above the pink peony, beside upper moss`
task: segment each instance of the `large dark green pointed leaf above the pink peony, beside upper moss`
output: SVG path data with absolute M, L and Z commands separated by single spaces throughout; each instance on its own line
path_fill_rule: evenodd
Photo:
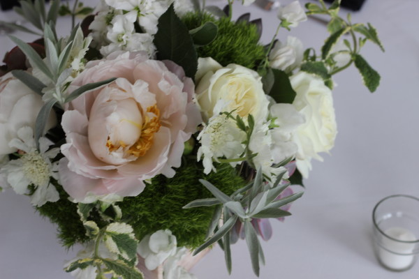
M 193 79 L 198 69 L 198 55 L 189 30 L 177 17 L 173 4 L 161 15 L 157 27 L 153 40 L 157 59 L 177 63 L 184 69 L 185 75 Z

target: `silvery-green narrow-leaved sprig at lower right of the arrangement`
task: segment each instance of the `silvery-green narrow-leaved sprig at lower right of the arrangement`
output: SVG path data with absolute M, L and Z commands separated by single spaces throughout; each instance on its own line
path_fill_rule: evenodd
M 282 162 L 276 167 L 286 165 L 286 163 L 288 163 L 288 161 Z M 207 241 L 195 250 L 194 255 L 218 242 L 225 253 L 228 273 L 231 273 L 230 234 L 236 222 L 239 221 L 244 225 L 246 243 L 251 256 L 253 271 L 256 276 L 259 276 L 259 263 L 264 263 L 264 256 L 256 230 L 251 224 L 251 220 L 253 218 L 281 218 L 290 216 L 291 213 L 280 208 L 302 196 L 302 192 L 300 192 L 277 199 L 290 185 L 290 183 L 281 183 L 284 181 L 284 174 L 285 172 L 279 174 L 276 181 L 274 181 L 271 186 L 269 183 L 265 183 L 262 170 L 258 169 L 256 176 L 251 183 L 235 191 L 235 193 L 230 196 L 222 193 L 216 186 L 212 185 L 212 183 L 200 179 L 200 183 L 210 190 L 214 197 L 196 199 L 195 201 L 186 204 L 184 208 L 189 209 L 196 206 L 216 207 L 210 227 L 207 231 Z

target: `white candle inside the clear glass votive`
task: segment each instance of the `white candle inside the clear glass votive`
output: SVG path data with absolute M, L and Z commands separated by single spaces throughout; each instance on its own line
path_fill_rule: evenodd
M 399 241 L 416 241 L 415 234 L 409 231 L 409 229 L 402 227 L 390 227 L 384 233 Z M 403 243 L 389 239 L 387 236 L 382 236 L 381 244 L 383 247 L 380 247 L 378 250 L 378 257 L 381 259 L 381 263 L 394 270 L 409 268 L 414 259 L 413 249 L 415 248 L 415 243 Z

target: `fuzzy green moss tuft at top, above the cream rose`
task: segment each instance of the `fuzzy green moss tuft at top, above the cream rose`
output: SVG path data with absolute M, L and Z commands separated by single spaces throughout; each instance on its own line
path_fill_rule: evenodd
M 205 22 L 214 22 L 219 33 L 209 45 L 198 47 L 200 57 L 212 57 L 222 66 L 236 63 L 247 68 L 255 68 L 265 57 L 263 45 L 260 45 L 256 26 L 247 22 L 232 22 L 228 17 L 216 20 L 212 15 L 188 13 L 182 21 L 189 29 L 200 27 Z

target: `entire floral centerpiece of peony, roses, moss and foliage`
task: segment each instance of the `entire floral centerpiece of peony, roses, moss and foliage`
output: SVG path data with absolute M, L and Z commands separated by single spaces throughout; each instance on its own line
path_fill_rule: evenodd
M 258 275 L 269 219 L 291 215 L 302 192 L 289 186 L 334 145 L 332 76 L 354 63 L 379 83 L 360 55 L 367 40 L 382 49 L 376 31 L 339 2 L 281 6 L 262 45 L 261 20 L 233 20 L 233 0 L 20 1 L 34 29 L 3 24 L 43 38 L 10 36 L 0 68 L 1 188 L 28 195 L 64 246 L 84 245 L 65 267 L 76 278 L 195 278 L 191 253 L 215 243 L 230 272 L 240 238 Z M 311 14 L 330 16 L 320 54 L 277 40 Z M 59 15 L 73 19 L 64 37 Z

